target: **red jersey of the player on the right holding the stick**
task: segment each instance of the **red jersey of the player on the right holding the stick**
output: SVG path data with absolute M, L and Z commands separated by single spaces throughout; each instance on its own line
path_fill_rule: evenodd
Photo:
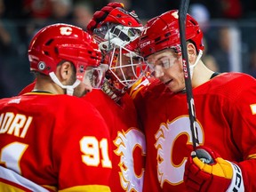
M 225 73 L 193 89 L 200 145 L 239 165 L 244 189 L 256 191 L 256 80 Z M 192 151 L 187 95 L 157 81 L 141 90 L 136 107 L 147 140 L 144 191 L 185 191 Z

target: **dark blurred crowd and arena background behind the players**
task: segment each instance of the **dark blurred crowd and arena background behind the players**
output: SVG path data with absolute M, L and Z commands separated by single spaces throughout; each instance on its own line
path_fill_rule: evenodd
M 0 98 L 17 95 L 33 81 L 28 44 L 38 29 L 64 22 L 86 27 L 93 12 L 111 0 L 0 0 Z M 147 20 L 179 0 L 120 0 L 126 10 Z M 239 71 L 256 77 L 256 1 L 190 0 L 189 13 L 204 31 L 205 65 L 215 71 Z

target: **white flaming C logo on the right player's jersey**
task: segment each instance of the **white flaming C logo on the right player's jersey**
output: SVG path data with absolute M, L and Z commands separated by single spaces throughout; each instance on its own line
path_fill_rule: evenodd
M 155 148 L 157 150 L 157 177 L 162 188 L 164 182 L 168 182 L 171 185 L 179 185 L 183 182 L 183 174 L 187 157 L 184 156 L 180 164 L 174 164 L 173 158 L 175 156 L 172 154 L 172 151 L 175 141 L 180 137 L 180 135 L 187 135 L 187 145 L 192 145 L 189 124 L 188 116 L 181 116 L 173 122 L 160 124 L 160 127 L 156 132 Z M 201 126 L 196 124 L 196 127 L 198 128 L 198 139 L 203 140 Z M 182 151 L 180 151 L 180 153 L 182 153 Z

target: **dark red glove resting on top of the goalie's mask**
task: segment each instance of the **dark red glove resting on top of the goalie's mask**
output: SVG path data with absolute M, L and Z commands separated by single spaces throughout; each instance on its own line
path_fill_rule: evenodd
M 94 12 L 92 20 L 87 25 L 87 32 L 92 35 L 94 28 L 104 21 L 108 17 L 108 13 L 111 12 L 116 7 L 124 9 L 124 4 L 113 2 L 104 6 L 100 11 Z

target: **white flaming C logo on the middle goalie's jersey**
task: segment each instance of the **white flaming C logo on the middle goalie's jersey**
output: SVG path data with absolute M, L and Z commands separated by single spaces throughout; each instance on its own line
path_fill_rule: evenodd
M 134 172 L 133 151 L 136 147 L 141 148 L 142 156 L 146 156 L 145 136 L 137 129 L 130 129 L 127 132 L 118 132 L 116 140 L 115 153 L 120 156 L 120 182 L 125 191 L 142 191 L 144 170 L 141 175 Z

